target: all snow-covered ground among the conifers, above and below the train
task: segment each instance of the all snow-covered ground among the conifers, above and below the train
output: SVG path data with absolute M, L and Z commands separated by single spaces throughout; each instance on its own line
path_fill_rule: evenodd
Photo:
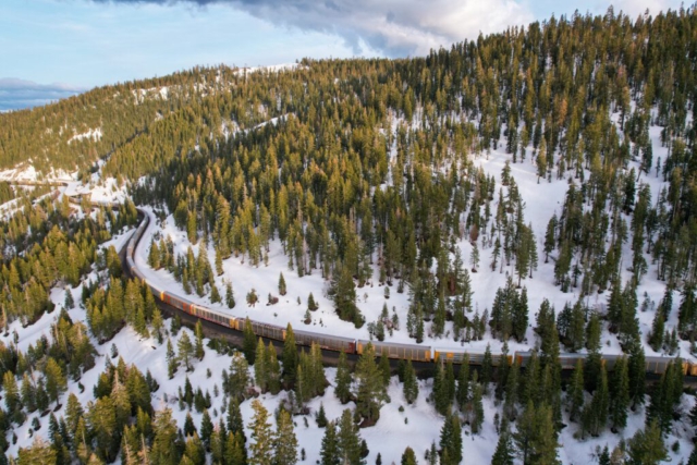
M 667 149 L 660 146 L 659 142 L 660 129 L 651 127 L 650 136 L 653 143 L 653 157 L 658 159 L 661 157 L 665 159 Z M 499 149 L 492 150 L 489 155 L 477 155 L 474 159 L 475 168 L 481 167 L 489 175 L 494 175 L 497 183 L 500 186 L 501 170 L 503 169 L 505 161 L 511 157 L 504 152 L 504 144 L 499 145 Z M 536 336 L 533 332 L 531 326 L 535 323 L 535 314 L 539 308 L 539 305 L 543 298 L 549 298 L 554 305 L 557 311 L 560 311 L 566 302 L 574 303 L 577 301 L 578 295 L 572 290 L 568 293 L 562 293 L 558 286 L 553 284 L 553 260 L 550 259 L 549 264 L 543 262 L 542 242 L 547 228 L 547 222 L 553 213 L 558 216 L 561 213 L 562 203 L 564 195 L 568 187 L 568 180 L 552 179 L 552 182 L 541 180 L 538 184 L 536 167 L 531 161 L 531 150 L 528 148 L 527 159 L 525 162 L 511 164 L 511 174 L 515 179 L 518 185 L 521 195 L 526 204 L 525 220 L 531 222 L 535 236 L 538 245 L 538 254 L 540 260 L 538 264 L 538 270 L 534 273 L 534 279 L 525 279 L 523 284 L 528 291 L 528 305 L 529 305 L 529 321 L 530 328 L 527 331 L 527 343 L 516 343 L 510 341 L 512 351 L 524 350 L 533 346 L 536 341 Z M 631 168 L 638 169 L 638 163 L 632 162 Z M 61 173 L 61 175 L 65 175 Z M 71 176 L 65 175 L 70 179 Z M 24 170 L 7 170 L 0 173 L 0 179 L 12 180 L 30 180 L 36 181 L 39 178 L 36 170 L 33 167 L 25 168 Z M 641 174 L 640 182 L 649 183 L 651 186 L 651 193 L 653 199 L 658 197 L 660 188 L 664 185 L 662 179 L 656 178 L 652 173 L 650 175 Z M 90 186 L 82 185 L 77 182 L 72 182 L 65 188 L 66 194 L 85 193 L 90 192 L 93 200 L 96 201 L 110 201 L 123 199 L 125 192 L 123 187 L 119 187 L 115 180 L 101 181 L 99 174 L 93 176 Z M 151 219 L 155 219 L 152 210 L 145 207 L 150 215 Z M 628 218 L 627 218 L 628 219 Z M 147 252 L 150 243 L 150 237 L 155 233 L 162 233 L 169 235 L 175 247 L 176 254 L 185 254 L 189 243 L 186 238 L 186 233 L 176 230 L 172 217 L 168 217 L 162 224 L 157 224 L 157 221 L 151 221 L 150 228 L 146 231 L 144 240 L 140 242 L 140 246 L 136 250 L 136 266 L 147 276 L 149 281 L 152 281 L 156 285 L 166 289 L 174 294 L 184 295 L 182 286 L 176 283 L 171 274 L 160 270 L 155 271 L 147 266 Z M 120 248 L 125 241 L 130 237 L 130 234 L 125 233 L 115 236 L 112 241 L 105 244 L 105 246 L 114 245 Z M 458 243 L 463 252 L 463 258 L 465 264 L 468 264 L 469 255 L 472 253 L 472 245 L 468 241 L 462 241 Z M 629 257 L 631 250 L 629 244 L 624 245 L 623 255 Z M 198 245 L 193 246 L 195 253 L 198 253 Z M 493 297 L 498 287 L 505 285 L 506 274 L 515 276 L 513 266 L 504 267 L 503 272 L 498 270 L 490 271 L 488 265 L 491 261 L 491 248 L 481 247 L 481 260 L 479 272 L 472 273 L 472 283 L 474 289 L 474 303 L 479 313 L 485 308 L 491 308 Z M 208 249 L 208 256 L 211 259 L 215 257 L 212 247 Z M 237 305 L 233 309 L 228 309 L 223 305 L 211 304 L 208 297 L 200 298 L 195 294 L 187 296 L 187 298 L 200 303 L 203 305 L 216 308 L 220 311 L 228 313 L 237 317 L 246 317 L 266 321 L 274 325 L 284 326 L 286 322 L 291 322 L 298 329 L 311 329 L 313 331 L 322 331 L 332 334 L 347 335 L 356 338 L 367 338 L 367 327 L 356 330 L 352 323 L 347 323 L 339 320 L 333 311 L 332 303 L 323 294 L 323 290 L 327 286 L 327 282 L 321 278 L 319 270 L 313 270 L 313 273 L 299 278 L 296 271 L 289 270 L 288 257 L 282 252 L 281 244 L 273 241 L 270 245 L 268 253 L 268 266 L 261 262 L 258 267 L 253 267 L 247 260 L 243 261 L 242 257 L 231 257 L 223 262 L 224 274 L 218 277 L 217 285 L 221 293 L 224 293 L 223 280 L 230 280 L 235 291 L 235 298 Z M 657 280 L 656 266 L 651 264 L 651 258 L 646 257 L 649 264 L 649 269 L 644 277 L 641 284 L 637 290 L 639 302 L 644 299 L 646 293 L 656 305 L 662 298 L 664 292 L 664 283 Z M 625 259 L 626 261 L 626 259 Z M 267 294 L 271 293 L 278 295 L 278 279 L 279 273 L 283 272 L 286 284 L 288 294 L 280 297 L 280 302 L 273 306 L 266 306 Z M 371 282 L 362 287 L 356 289 L 358 295 L 358 307 L 363 315 L 366 317 L 366 321 L 375 321 L 382 309 L 383 304 L 388 305 L 390 314 L 393 309 L 400 317 L 401 330 L 395 331 L 393 335 L 387 335 L 387 340 L 394 342 L 409 342 L 411 340 L 405 330 L 406 326 L 406 309 L 408 306 L 407 294 L 399 294 L 396 292 L 396 283 L 390 290 L 390 298 L 386 299 L 383 295 L 383 287 L 378 285 L 378 272 L 374 270 L 374 279 Z M 625 282 L 631 277 L 631 272 L 623 270 L 622 281 Z M 89 277 L 95 279 L 93 274 Z M 256 307 L 249 307 L 245 302 L 245 295 L 250 289 L 256 289 L 259 295 L 259 303 Z M 61 306 L 64 302 L 65 290 L 53 289 L 51 292 L 51 298 L 58 306 Z M 80 299 L 81 287 L 72 290 L 75 301 Z M 307 307 L 307 296 L 309 293 L 314 294 L 314 297 L 319 304 L 319 310 L 311 314 L 313 322 L 309 327 L 303 323 L 304 314 Z M 591 307 L 603 309 L 609 297 L 609 292 L 603 294 L 594 294 L 587 302 Z M 301 299 L 298 305 L 297 298 Z M 674 298 L 674 302 L 677 299 Z M 674 304 L 676 306 L 676 304 Z M 671 313 L 671 317 L 667 322 L 667 329 L 672 329 L 676 325 L 677 311 L 674 307 Z M 51 338 L 50 325 L 54 321 L 59 310 L 54 310 L 52 314 L 44 315 L 35 325 L 22 328 L 19 322 L 12 323 L 10 328 L 9 336 L 0 335 L 0 340 L 5 344 L 9 344 L 12 340 L 13 331 L 19 334 L 17 347 L 21 351 L 26 351 L 29 344 L 35 343 L 41 335 Z M 81 308 L 71 309 L 69 311 L 71 318 L 76 321 L 85 321 L 85 311 Z M 651 320 L 653 317 L 652 311 L 639 313 L 640 330 L 643 332 L 643 340 L 646 341 L 646 334 L 649 332 Z M 450 323 L 449 323 L 450 325 Z M 167 325 L 169 327 L 169 325 Z M 450 328 L 450 326 L 449 326 Z M 189 331 L 183 329 L 182 331 Z M 448 331 L 448 330 L 447 330 Z M 181 336 L 182 332 L 178 336 L 172 338 L 172 343 L 176 346 L 176 341 Z M 189 331 L 189 335 L 191 331 Z M 185 374 L 183 368 L 180 368 L 172 380 L 168 380 L 167 376 L 167 360 L 166 360 L 166 344 L 159 345 L 154 339 L 143 339 L 136 334 L 132 329 L 123 329 L 115 335 L 112 341 L 107 344 L 99 345 L 97 341 L 93 340 L 93 343 L 99 352 L 97 358 L 97 365 L 88 370 L 81 383 L 85 387 L 83 392 L 80 392 L 76 382 L 70 381 L 69 392 L 74 392 L 80 401 L 85 405 L 88 401 L 93 400 L 91 387 L 96 383 L 96 380 L 100 372 L 103 371 L 107 358 L 110 356 L 110 346 L 113 343 L 119 351 L 120 356 L 124 358 L 127 364 L 136 364 L 138 369 L 143 372 L 150 370 L 152 376 L 160 384 L 160 389 L 154 393 L 152 406 L 156 409 L 162 408 L 166 404 L 164 399 L 168 399 L 168 405 L 173 409 L 174 418 L 180 427 L 183 427 L 186 416 L 185 411 L 179 411 L 178 404 L 174 401 L 179 387 L 183 387 L 184 379 L 188 376 L 194 384 L 194 389 L 200 387 L 204 392 L 210 392 L 213 396 L 215 386 L 221 388 L 221 372 L 223 368 L 230 366 L 230 356 L 219 355 L 210 350 L 206 351 L 206 356 L 201 362 L 196 362 L 194 370 L 189 374 Z M 489 339 L 489 333 L 484 341 L 477 341 L 472 343 L 465 343 L 464 347 L 472 350 L 473 352 L 484 351 L 487 343 L 490 343 L 492 351 L 500 350 L 501 343 L 497 340 Z M 609 332 L 603 334 L 603 352 L 606 353 L 619 353 L 620 345 L 616 338 Z M 443 339 L 427 339 L 425 345 L 432 346 L 463 346 L 460 342 L 454 342 L 452 336 Z M 647 355 L 652 355 L 655 352 L 645 344 Z M 681 343 L 681 356 L 695 359 L 689 354 L 688 343 Z M 115 362 L 115 360 L 113 360 Z M 210 369 L 211 377 L 207 377 L 207 370 Z M 330 383 L 333 383 L 335 370 L 328 368 L 327 377 Z M 438 443 L 440 429 L 442 427 L 443 418 L 439 416 L 433 406 L 427 402 L 427 397 L 430 393 L 432 380 L 419 381 L 419 397 L 415 405 L 409 406 L 403 400 L 402 387 L 398 382 L 396 378 L 393 378 L 390 383 L 390 397 L 391 403 L 386 404 L 381 409 L 381 417 L 378 424 L 374 427 L 363 429 L 360 431 L 362 437 L 366 440 L 370 450 L 370 455 L 366 462 L 368 464 L 375 463 L 377 454 L 380 453 L 383 464 L 400 463 L 401 454 L 404 449 L 409 445 L 416 454 L 419 463 L 425 463 L 424 453 L 430 446 L 432 441 Z M 166 395 L 167 394 L 167 395 Z M 267 408 L 272 412 L 286 393 L 281 392 L 278 395 L 264 394 L 261 400 Z M 63 409 L 65 408 L 68 394 L 64 394 L 61 399 Z M 217 423 L 220 419 L 220 412 L 222 407 L 222 395 L 213 396 L 212 406 L 210 413 L 212 420 Z M 296 425 L 295 431 L 298 437 L 299 448 L 305 449 L 307 454 L 305 464 L 313 464 L 319 458 L 320 442 L 323 435 L 323 430 L 318 428 L 313 414 L 317 412 L 320 403 L 323 404 L 327 417 L 329 419 L 338 418 L 341 412 L 345 407 L 351 407 L 352 404 L 341 405 L 333 395 L 333 387 L 330 387 L 325 396 L 321 399 L 315 399 L 310 402 L 309 406 L 311 413 L 307 416 L 307 427 L 305 426 L 305 419 L 301 416 L 294 417 Z M 682 411 L 687 412 L 694 404 L 692 396 L 684 396 L 682 403 Z M 404 406 L 404 412 L 400 412 L 400 406 Z M 498 433 L 493 426 L 493 416 L 498 412 L 499 407 L 496 405 L 492 396 L 489 395 L 485 399 L 485 425 L 482 431 L 478 436 L 472 436 L 468 428 L 464 428 L 464 442 L 463 453 L 465 464 L 487 464 L 491 460 L 496 443 L 498 440 Z M 63 413 L 63 409 L 57 412 L 57 415 Z M 244 402 L 242 404 L 242 413 L 245 418 L 245 423 L 248 424 L 252 417 L 250 402 Z M 9 455 L 16 455 L 20 446 L 27 446 L 32 442 L 32 438 L 28 436 L 28 428 L 30 426 L 30 419 L 37 416 L 33 414 L 29 420 L 22 427 L 15 429 L 19 441 L 16 444 L 11 444 L 8 451 Z M 192 412 L 195 425 L 200 425 L 201 414 Z M 683 418 L 686 418 L 683 416 Z M 35 435 L 48 436 L 48 416 L 40 418 L 41 429 Z M 406 423 L 405 423 L 406 420 Z M 565 423 L 568 424 L 562 430 L 560 436 L 561 446 L 559 449 L 559 457 L 564 465 L 579 465 L 579 464 L 595 464 L 597 460 L 594 457 L 596 446 L 604 446 L 606 444 L 612 449 L 622 438 L 632 437 L 636 430 L 644 426 L 645 412 L 639 409 L 637 413 L 631 413 L 628 425 L 624 431 L 619 435 L 606 431 L 599 438 L 588 439 L 586 441 L 578 441 L 574 438 L 574 433 L 577 431 L 575 424 L 570 424 L 567 418 Z M 250 431 L 247 431 L 249 436 Z M 692 436 L 694 435 L 694 428 L 688 425 L 686 419 L 674 423 L 672 433 L 667 438 L 665 443 L 671 446 L 675 442 L 680 444 L 678 452 L 671 452 L 672 462 L 678 463 L 681 458 L 685 458 L 692 451 Z

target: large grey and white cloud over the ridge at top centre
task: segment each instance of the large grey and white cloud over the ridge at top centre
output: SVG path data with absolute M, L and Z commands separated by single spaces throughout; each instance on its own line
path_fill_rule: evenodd
M 425 54 L 479 33 L 534 21 L 521 0 L 93 0 L 98 3 L 229 4 L 272 24 L 342 37 L 357 54 Z M 365 48 L 368 50 L 365 50 Z

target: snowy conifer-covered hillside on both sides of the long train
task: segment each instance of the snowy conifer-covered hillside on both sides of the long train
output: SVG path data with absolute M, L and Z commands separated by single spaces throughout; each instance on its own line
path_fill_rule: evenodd
M 695 8 L 609 10 L 423 58 L 200 68 L 0 114 L 0 169 L 115 179 L 133 200 L 0 184 L 2 458 L 697 463 L 681 359 L 697 357 L 696 75 Z M 148 277 L 288 322 L 280 356 L 163 321 L 120 267 L 135 205 L 158 220 Z M 291 321 L 486 354 L 427 381 L 411 363 L 391 378 L 371 347 L 326 372 Z M 529 365 L 494 369 L 509 344 Z M 625 356 L 608 370 L 604 351 Z M 565 379 L 562 352 L 587 355 Z M 650 386 L 646 353 L 676 357 Z

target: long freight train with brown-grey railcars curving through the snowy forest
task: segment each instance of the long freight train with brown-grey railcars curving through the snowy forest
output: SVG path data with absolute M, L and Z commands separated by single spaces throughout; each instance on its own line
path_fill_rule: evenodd
M 243 331 L 245 325 L 252 325 L 252 330 L 258 336 L 268 338 L 277 341 L 284 341 L 286 336 L 286 329 L 276 325 L 269 325 L 265 322 L 247 320 L 246 318 L 237 318 L 221 311 L 207 308 L 194 302 L 191 302 L 186 297 L 174 295 L 169 291 L 164 291 L 155 285 L 151 281 L 148 281 L 145 274 L 135 265 L 135 250 L 143 237 L 143 233 L 147 230 L 150 217 L 147 212 L 138 209 L 144 216 L 144 220 L 136 229 L 133 236 L 130 238 L 126 245 L 126 265 L 131 273 L 144 281 L 156 298 L 161 302 L 171 305 L 172 307 L 184 311 L 194 317 L 210 321 L 221 327 Z M 293 330 L 295 342 L 298 345 L 310 345 L 313 343 L 318 344 L 322 350 L 327 351 L 344 351 L 347 354 L 363 354 L 368 343 L 372 344 L 376 353 L 379 355 L 384 354 L 389 358 L 405 359 L 413 362 L 439 362 L 439 360 L 452 360 L 454 364 L 462 364 L 465 356 L 468 356 L 470 365 L 481 365 L 485 354 L 482 352 L 473 352 L 467 348 L 460 347 L 438 347 L 421 344 L 400 344 L 393 342 L 381 341 L 368 341 L 365 339 L 346 338 L 340 335 L 331 335 L 321 332 Z M 491 364 L 499 366 L 504 359 L 506 364 L 512 364 L 514 360 L 518 362 L 522 367 L 525 367 L 533 352 L 515 352 L 513 355 L 491 354 Z M 623 355 L 616 354 L 603 354 L 602 363 L 604 366 L 612 370 L 615 362 Z M 563 370 L 573 370 L 579 359 L 584 360 L 586 354 L 563 353 L 560 355 L 561 368 Z M 668 365 L 673 362 L 673 357 L 661 356 L 647 356 L 646 357 L 646 371 L 650 375 L 660 375 L 665 371 Z M 682 362 L 683 372 L 687 376 L 697 376 L 697 364 L 689 362 Z

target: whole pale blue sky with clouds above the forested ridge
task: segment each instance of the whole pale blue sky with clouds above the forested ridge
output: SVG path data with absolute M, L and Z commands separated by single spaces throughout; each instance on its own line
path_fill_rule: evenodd
M 552 14 L 678 0 L 1 0 L 0 111 L 195 65 L 414 57 Z

